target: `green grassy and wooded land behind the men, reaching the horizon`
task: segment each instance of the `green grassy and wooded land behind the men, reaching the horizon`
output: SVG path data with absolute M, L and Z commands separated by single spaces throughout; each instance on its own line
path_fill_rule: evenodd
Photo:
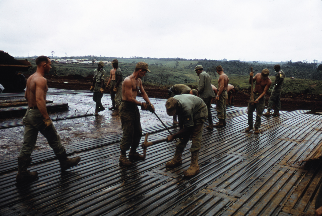
M 110 61 L 109 58 L 107 61 Z M 103 60 L 103 59 L 102 59 Z M 34 60 L 31 61 L 33 67 L 29 73 L 33 73 L 36 70 Z M 106 61 L 106 60 L 105 60 Z M 229 84 L 233 86 L 238 86 L 240 89 L 249 89 L 251 85 L 249 84 L 249 74 L 250 67 L 254 68 L 254 71 L 260 72 L 263 68 L 269 68 L 270 79 L 274 82 L 276 74 L 273 71 L 272 65 L 269 64 L 258 64 L 255 63 L 249 64 L 247 62 L 220 62 L 215 60 L 182 60 L 182 59 L 152 59 L 152 58 L 131 58 L 131 59 L 119 59 L 119 67 L 122 70 L 123 76 L 129 76 L 135 68 L 135 65 L 139 61 L 145 61 L 149 64 L 149 70 L 151 73 L 147 73 L 147 75 L 142 79 L 144 84 L 152 84 L 158 86 L 172 86 L 178 83 L 197 86 L 198 85 L 198 76 L 193 70 L 194 67 L 198 64 L 202 64 L 204 66 L 204 70 L 207 71 L 212 77 L 212 84 L 214 86 L 218 86 L 218 74 L 215 72 L 215 66 L 221 64 L 224 67 L 225 73 L 229 77 Z M 295 63 L 294 63 L 295 64 Z M 304 65 L 305 66 L 305 65 Z M 302 67 L 304 67 L 302 65 Z M 312 66 L 312 65 L 308 65 Z M 56 70 L 58 75 L 65 76 L 70 74 L 78 74 L 83 77 L 89 76 L 93 74 L 93 70 L 97 67 L 95 64 L 81 65 L 81 64 L 63 64 L 63 63 L 53 63 L 51 74 Z M 225 69 L 226 68 L 226 69 Z M 290 64 L 282 65 L 282 69 L 284 69 L 286 79 L 283 84 L 283 93 L 294 92 L 294 93 L 312 93 L 312 94 L 322 94 L 322 80 L 309 80 L 309 79 L 291 79 L 290 74 L 293 74 L 293 71 L 302 70 L 301 67 L 296 66 L 293 67 Z M 105 65 L 104 69 L 107 71 L 109 76 L 109 71 L 111 69 L 111 65 Z M 304 70 L 304 69 L 303 69 Z M 315 71 L 315 70 L 314 70 Z M 314 72 L 313 71 L 313 72 Z M 238 72 L 236 75 L 234 72 Z M 232 74 L 231 74 L 232 73 Z M 307 77 L 314 77 L 320 73 L 319 70 L 315 71 L 314 74 L 308 73 L 306 71 Z M 273 86 L 273 85 L 272 85 Z M 269 91 L 271 91 L 272 86 Z

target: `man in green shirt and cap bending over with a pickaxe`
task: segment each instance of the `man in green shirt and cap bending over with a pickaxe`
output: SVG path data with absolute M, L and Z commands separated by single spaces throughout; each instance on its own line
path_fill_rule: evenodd
M 190 94 L 176 95 L 166 101 L 166 113 L 169 116 L 177 115 L 180 131 L 167 137 L 167 142 L 179 138 L 176 143 L 175 155 L 166 163 L 167 167 L 182 164 L 181 155 L 191 137 L 191 164 L 183 175 L 194 176 L 199 173 L 198 157 L 201 148 L 201 137 L 204 121 L 207 119 L 208 110 L 203 99 Z

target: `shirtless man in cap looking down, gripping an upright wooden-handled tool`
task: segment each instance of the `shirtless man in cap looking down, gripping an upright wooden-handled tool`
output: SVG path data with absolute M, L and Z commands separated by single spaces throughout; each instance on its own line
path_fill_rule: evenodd
M 270 88 L 272 84 L 272 80 L 268 77 L 270 71 L 268 69 L 262 70 L 261 73 L 257 73 L 254 77 L 253 73 L 251 72 L 249 83 L 256 82 L 254 87 L 254 101 L 255 103 L 248 103 L 247 107 L 247 116 L 248 116 L 248 127 L 246 128 L 246 132 L 250 131 L 253 128 L 253 112 L 256 109 L 256 119 L 255 119 L 255 134 L 259 134 L 259 128 L 261 124 L 261 116 L 263 114 L 265 108 L 265 95 L 267 90 Z M 251 100 L 250 100 L 251 101 Z

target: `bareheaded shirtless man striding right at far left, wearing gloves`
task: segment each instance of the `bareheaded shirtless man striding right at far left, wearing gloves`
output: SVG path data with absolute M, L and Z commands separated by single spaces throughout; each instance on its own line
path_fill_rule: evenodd
M 38 132 L 46 137 L 50 147 L 52 147 L 61 169 L 64 171 L 81 161 L 81 157 L 69 159 L 66 150 L 61 144 L 60 136 L 52 124 L 46 109 L 46 93 L 48 90 L 47 80 L 43 77 L 52 68 L 52 62 L 47 56 L 39 56 L 36 59 L 37 70 L 27 80 L 27 87 L 24 94 L 28 101 L 28 109 L 23 118 L 24 142 L 18 156 L 17 183 L 28 183 L 33 181 L 37 172 L 27 170 L 31 162 L 31 153 L 36 146 Z

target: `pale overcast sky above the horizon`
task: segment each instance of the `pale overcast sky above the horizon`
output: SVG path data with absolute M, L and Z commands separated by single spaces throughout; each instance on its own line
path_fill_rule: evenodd
M 322 0 L 0 0 L 12 56 L 322 61 Z

